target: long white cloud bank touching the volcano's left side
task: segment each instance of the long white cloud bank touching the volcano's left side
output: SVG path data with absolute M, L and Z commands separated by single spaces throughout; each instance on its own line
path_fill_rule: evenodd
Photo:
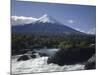
M 24 25 L 35 21 L 37 21 L 37 19 L 33 17 L 11 16 L 11 25 Z

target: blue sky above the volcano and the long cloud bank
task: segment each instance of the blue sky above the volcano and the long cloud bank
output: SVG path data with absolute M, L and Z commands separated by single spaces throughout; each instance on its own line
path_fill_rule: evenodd
M 39 18 L 48 14 L 64 25 L 74 29 L 95 33 L 96 7 L 86 5 L 36 3 L 12 0 L 12 16 Z

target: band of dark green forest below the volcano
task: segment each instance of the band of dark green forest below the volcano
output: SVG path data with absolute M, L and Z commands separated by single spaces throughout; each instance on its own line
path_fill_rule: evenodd
M 95 44 L 95 36 L 33 36 L 12 34 L 12 52 L 34 48 L 75 48 Z

